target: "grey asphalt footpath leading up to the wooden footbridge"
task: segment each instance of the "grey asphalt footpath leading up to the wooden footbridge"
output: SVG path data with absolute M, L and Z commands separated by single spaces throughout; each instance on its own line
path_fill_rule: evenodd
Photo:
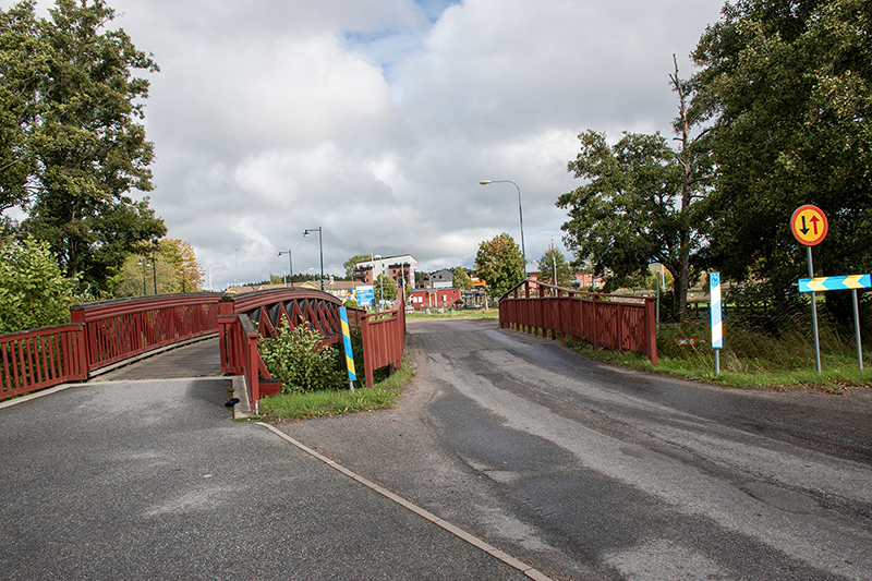
M 232 421 L 230 383 L 102 380 L 0 409 L 0 578 L 544 579 Z

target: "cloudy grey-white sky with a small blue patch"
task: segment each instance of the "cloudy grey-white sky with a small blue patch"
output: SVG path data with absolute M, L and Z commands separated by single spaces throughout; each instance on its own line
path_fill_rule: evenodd
M 8 4 L 9 2 L 3 2 Z M 673 53 L 724 0 L 109 0 L 154 53 L 152 207 L 215 287 L 342 274 L 354 254 L 471 267 L 479 243 L 529 261 L 578 184 L 586 129 L 669 133 Z M 47 0 L 39 0 L 45 9 Z M 208 283 L 208 276 L 207 276 Z

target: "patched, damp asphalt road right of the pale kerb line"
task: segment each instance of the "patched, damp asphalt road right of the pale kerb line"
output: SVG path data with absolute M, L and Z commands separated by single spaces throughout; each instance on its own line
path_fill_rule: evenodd
M 872 395 L 750 392 L 410 322 L 395 410 L 280 428 L 554 579 L 872 579 Z

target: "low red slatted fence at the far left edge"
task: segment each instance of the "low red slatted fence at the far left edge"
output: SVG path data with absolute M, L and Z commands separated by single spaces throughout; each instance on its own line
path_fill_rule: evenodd
M 83 325 L 0 335 L 0 399 L 86 376 Z

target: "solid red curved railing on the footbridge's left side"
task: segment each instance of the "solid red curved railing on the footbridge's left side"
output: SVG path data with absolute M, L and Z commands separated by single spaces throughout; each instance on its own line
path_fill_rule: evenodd
M 221 294 L 162 294 L 75 305 L 85 325 L 88 372 L 218 330 Z

